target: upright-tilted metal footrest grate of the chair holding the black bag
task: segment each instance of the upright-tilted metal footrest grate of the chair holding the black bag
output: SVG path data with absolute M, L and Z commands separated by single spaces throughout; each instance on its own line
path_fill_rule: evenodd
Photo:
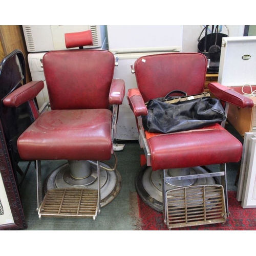
M 224 223 L 227 219 L 221 185 L 188 186 L 166 191 L 166 225 L 169 229 Z

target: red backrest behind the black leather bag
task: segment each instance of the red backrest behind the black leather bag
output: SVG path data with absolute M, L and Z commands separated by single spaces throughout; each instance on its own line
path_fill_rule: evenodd
M 140 57 L 135 75 L 144 101 L 164 97 L 173 90 L 187 95 L 204 91 L 207 59 L 199 53 L 166 53 Z

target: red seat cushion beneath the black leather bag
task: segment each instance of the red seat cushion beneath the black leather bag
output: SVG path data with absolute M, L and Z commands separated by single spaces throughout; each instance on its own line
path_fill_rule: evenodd
M 219 124 L 180 133 L 146 132 L 146 138 L 153 170 L 238 162 L 243 150 L 241 142 Z

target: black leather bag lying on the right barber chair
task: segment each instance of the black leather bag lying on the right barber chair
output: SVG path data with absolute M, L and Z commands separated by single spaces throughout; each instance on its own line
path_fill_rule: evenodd
M 169 96 L 182 93 L 184 97 Z M 152 133 L 174 133 L 199 129 L 226 119 L 219 99 L 209 94 L 187 96 L 182 91 L 172 91 L 163 98 L 146 103 L 148 114 L 142 116 L 144 130 Z

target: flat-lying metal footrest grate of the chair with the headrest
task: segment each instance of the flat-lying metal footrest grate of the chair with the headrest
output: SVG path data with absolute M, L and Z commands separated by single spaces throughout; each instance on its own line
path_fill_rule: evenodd
M 55 188 L 47 191 L 39 209 L 39 218 L 93 218 L 98 212 L 98 190 Z

